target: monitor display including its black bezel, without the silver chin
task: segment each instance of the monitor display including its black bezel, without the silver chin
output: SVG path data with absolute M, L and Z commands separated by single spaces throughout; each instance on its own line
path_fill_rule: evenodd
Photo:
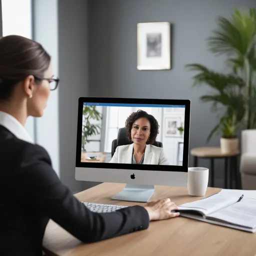
M 190 102 L 149 101 L 81 98 L 78 166 L 187 171 Z

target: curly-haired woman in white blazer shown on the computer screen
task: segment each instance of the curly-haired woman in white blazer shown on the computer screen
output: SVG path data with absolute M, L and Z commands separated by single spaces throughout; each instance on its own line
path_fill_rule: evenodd
M 125 121 L 128 145 L 117 146 L 110 160 L 113 163 L 168 165 L 163 149 L 152 145 L 159 133 L 157 120 L 146 111 L 131 113 Z

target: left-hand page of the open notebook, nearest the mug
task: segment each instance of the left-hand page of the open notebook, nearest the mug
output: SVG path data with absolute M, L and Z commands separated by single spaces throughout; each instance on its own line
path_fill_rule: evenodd
M 231 193 L 217 193 L 200 200 L 183 203 L 178 206 L 178 211 L 197 210 L 206 215 L 237 202 L 239 197 Z

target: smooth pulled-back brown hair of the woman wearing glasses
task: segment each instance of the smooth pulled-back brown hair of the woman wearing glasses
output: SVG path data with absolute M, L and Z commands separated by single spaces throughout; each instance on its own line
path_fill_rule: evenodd
M 0 100 L 8 99 L 26 76 L 43 76 L 49 63 L 50 56 L 40 43 L 20 35 L 0 37 Z

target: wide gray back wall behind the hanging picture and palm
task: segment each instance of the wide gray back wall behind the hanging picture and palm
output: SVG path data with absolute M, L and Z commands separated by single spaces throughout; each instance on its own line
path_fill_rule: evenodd
M 205 145 L 215 125 L 209 104 L 198 102 L 207 88 L 191 88 L 187 63 L 198 62 L 224 70 L 222 57 L 207 51 L 205 38 L 215 27 L 215 17 L 228 17 L 240 0 L 89 0 L 89 93 L 91 96 L 189 98 L 191 100 L 190 148 Z M 256 7 L 255 0 L 243 6 Z M 169 21 L 172 25 L 172 69 L 136 69 L 136 23 Z M 219 145 L 214 137 L 209 145 Z M 192 159 L 189 159 L 189 165 Z M 221 164 L 221 165 L 220 165 Z M 222 166 L 217 162 L 217 168 Z M 209 162 L 200 160 L 199 165 Z M 223 177 L 222 169 L 218 174 Z

